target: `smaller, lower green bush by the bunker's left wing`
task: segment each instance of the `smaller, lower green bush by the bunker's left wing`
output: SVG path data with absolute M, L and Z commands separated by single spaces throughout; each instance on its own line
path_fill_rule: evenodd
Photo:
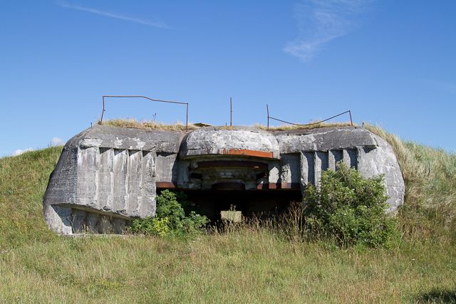
M 195 234 L 201 231 L 209 220 L 195 211 L 187 211 L 186 214 L 185 209 L 190 209 L 190 205 L 183 192 L 162 191 L 157 195 L 155 216 L 133 220 L 129 231 L 155 236 Z

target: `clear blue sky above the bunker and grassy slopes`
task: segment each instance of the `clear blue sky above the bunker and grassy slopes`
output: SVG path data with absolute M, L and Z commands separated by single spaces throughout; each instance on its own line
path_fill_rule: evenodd
M 0 156 L 65 142 L 102 95 L 191 122 L 353 120 L 454 152 L 456 1 L 0 1 Z M 108 118 L 185 121 L 109 100 Z M 346 121 L 341 117 L 339 121 Z M 337 120 L 336 120 L 337 121 Z

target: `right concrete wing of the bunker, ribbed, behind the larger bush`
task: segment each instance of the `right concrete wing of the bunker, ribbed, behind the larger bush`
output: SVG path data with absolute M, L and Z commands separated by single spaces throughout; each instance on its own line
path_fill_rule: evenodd
M 362 127 L 331 127 L 275 132 L 281 153 L 301 154 L 301 184 L 318 184 L 321 172 L 336 162 L 358 169 L 364 177 L 385 174 L 390 210 L 403 204 L 405 184 L 393 148 Z

